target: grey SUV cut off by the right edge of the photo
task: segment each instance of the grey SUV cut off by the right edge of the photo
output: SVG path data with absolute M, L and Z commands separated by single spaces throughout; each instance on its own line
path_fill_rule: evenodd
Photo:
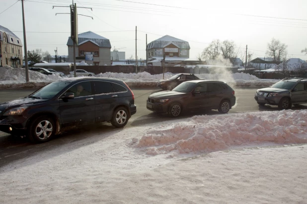
M 269 88 L 258 89 L 254 98 L 259 105 L 278 105 L 280 109 L 307 103 L 307 78 L 284 78 Z

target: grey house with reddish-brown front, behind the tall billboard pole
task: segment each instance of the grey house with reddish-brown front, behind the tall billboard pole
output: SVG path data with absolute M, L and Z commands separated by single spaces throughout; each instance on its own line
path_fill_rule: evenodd
M 74 43 L 69 37 L 68 42 L 69 62 L 74 62 Z M 76 62 L 85 61 L 89 65 L 111 65 L 110 41 L 91 31 L 78 34 L 76 46 Z

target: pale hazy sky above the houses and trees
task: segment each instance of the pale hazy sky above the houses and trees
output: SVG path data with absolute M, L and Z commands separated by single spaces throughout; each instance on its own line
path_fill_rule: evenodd
M 0 13 L 17 0 L 0 0 Z M 132 2 L 134 1 L 134 2 Z M 307 0 L 75 0 L 79 33 L 93 31 L 108 38 L 112 49 L 122 48 L 126 58 L 135 57 L 135 26 L 138 26 L 138 57 L 146 58 L 148 43 L 170 35 L 190 43 L 195 58 L 214 39 L 232 40 L 240 49 L 246 45 L 254 57 L 265 57 L 267 43 L 274 37 L 288 45 L 289 57 L 307 60 Z M 135 3 L 142 2 L 142 3 Z M 25 0 L 27 48 L 41 48 L 54 55 L 67 55 L 70 36 L 71 0 Z M 164 6 L 158 6 L 158 5 Z M 254 16 L 249 16 L 254 15 Z M 260 17 L 260 16 L 269 16 Z M 283 19 L 287 18 L 287 19 Z M 296 20 L 293 20 L 296 19 Z M 23 41 L 21 1 L 0 14 L 0 25 Z M 17 32 L 18 31 L 18 32 Z M 109 32 L 114 31 L 114 32 Z M 58 32 L 58 33 L 55 33 Z

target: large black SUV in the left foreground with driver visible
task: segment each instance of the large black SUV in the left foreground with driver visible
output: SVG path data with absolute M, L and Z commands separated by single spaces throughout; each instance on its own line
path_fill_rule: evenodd
M 65 78 L 25 98 L 0 103 L 0 131 L 45 142 L 86 124 L 110 122 L 121 128 L 136 112 L 134 94 L 121 80 Z

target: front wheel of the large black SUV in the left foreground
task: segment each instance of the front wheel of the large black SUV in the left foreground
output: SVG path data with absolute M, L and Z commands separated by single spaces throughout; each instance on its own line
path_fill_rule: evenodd
M 28 137 L 33 143 L 47 142 L 56 132 L 56 123 L 49 116 L 40 116 L 34 119 L 28 129 Z

